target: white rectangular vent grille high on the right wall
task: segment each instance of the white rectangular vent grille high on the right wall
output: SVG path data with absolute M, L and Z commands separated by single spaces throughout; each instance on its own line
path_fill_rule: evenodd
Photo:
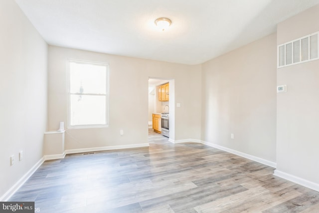
M 319 32 L 278 45 L 277 67 L 285 67 L 319 59 Z

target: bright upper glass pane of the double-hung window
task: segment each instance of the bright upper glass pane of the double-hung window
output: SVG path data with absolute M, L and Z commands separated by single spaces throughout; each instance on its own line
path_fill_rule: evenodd
M 106 94 L 106 66 L 70 62 L 70 93 Z

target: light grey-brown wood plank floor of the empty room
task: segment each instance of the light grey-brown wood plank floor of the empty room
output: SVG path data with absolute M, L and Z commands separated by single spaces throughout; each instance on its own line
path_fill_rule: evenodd
M 319 213 L 319 193 L 274 169 L 202 144 L 67 155 L 46 161 L 10 201 L 40 213 Z

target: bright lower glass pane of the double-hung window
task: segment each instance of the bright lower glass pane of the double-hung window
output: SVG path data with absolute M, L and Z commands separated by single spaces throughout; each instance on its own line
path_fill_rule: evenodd
M 70 125 L 105 125 L 105 109 L 104 95 L 70 95 Z

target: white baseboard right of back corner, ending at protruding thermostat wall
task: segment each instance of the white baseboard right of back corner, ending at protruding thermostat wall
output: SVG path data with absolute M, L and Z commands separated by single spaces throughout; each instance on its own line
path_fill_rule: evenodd
M 213 144 L 213 143 L 209 143 L 209 142 L 206 142 L 206 141 L 201 141 L 201 143 L 205 144 L 207 146 L 216 148 L 216 149 L 223 150 L 225 152 L 232 153 L 234 155 L 238 155 L 238 156 L 247 158 L 247 159 L 252 160 L 252 161 L 256 161 L 256 162 L 261 163 L 261 164 L 265 164 L 265 165 L 273 167 L 273 168 L 277 167 L 277 164 L 275 162 L 272 162 L 272 161 L 268 161 L 268 160 L 265 160 L 265 159 L 262 159 L 262 158 L 259 158 L 259 157 L 253 156 L 253 155 L 248 155 L 248 154 L 243 153 L 243 152 L 238 152 L 236 150 L 229 149 L 227 147 L 223 147 L 223 146 L 220 146 L 220 145 L 217 145 L 217 144 Z

